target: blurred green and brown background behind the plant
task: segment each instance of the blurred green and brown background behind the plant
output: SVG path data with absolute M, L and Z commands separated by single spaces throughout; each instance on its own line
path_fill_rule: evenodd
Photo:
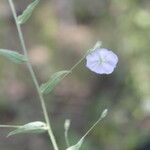
M 14 0 L 18 15 L 31 0 Z M 97 40 L 119 63 L 111 75 L 98 75 L 85 61 L 45 96 L 52 127 L 65 149 L 63 124 L 71 119 L 71 144 L 103 109 L 105 120 L 86 138 L 82 150 L 150 150 L 150 1 L 41 0 L 22 26 L 39 83 L 71 68 Z M 22 53 L 8 1 L 0 1 L 0 48 Z M 26 65 L 0 56 L 0 124 L 22 125 L 43 119 Z M 0 129 L 2 150 L 53 149 L 46 134 L 16 135 Z

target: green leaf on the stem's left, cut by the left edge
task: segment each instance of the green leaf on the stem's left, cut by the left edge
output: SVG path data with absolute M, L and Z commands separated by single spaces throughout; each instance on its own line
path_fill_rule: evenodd
M 0 55 L 5 56 L 6 58 L 12 60 L 15 63 L 25 63 L 27 62 L 27 58 L 19 54 L 15 51 L 7 50 L 7 49 L 0 49 Z

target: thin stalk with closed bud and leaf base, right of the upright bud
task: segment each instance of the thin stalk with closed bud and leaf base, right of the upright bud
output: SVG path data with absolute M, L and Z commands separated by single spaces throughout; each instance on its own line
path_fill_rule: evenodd
M 85 137 L 91 132 L 91 130 L 103 119 L 106 117 L 108 110 L 105 109 L 100 118 L 94 123 L 94 125 L 85 133 L 85 135 L 77 142 L 77 144 L 68 147 L 66 150 L 79 150 L 84 142 Z

